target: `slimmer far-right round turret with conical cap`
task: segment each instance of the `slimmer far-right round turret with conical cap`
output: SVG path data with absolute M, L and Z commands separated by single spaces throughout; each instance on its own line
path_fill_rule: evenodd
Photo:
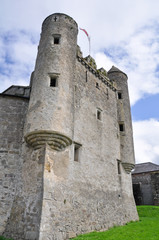
M 127 173 L 130 173 L 135 164 L 130 101 L 127 85 L 127 75 L 120 69 L 112 66 L 108 77 L 117 88 L 117 114 L 120 134 L 120 160 Z

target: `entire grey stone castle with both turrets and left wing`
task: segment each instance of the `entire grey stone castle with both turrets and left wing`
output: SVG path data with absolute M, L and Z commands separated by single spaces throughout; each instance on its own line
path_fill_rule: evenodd
M 138 219 L 127 75 L 83 58 L 77 33 L 47 17 L 30 86 L 0 94 L 0 235 L 64 240 Z

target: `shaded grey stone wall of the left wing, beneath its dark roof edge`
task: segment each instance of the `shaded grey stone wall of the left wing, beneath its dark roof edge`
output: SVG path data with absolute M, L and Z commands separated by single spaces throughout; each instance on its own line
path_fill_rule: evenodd
M 0 95 L 0 233 L 5 230 L 21 169 L 21 145 L 28 99 Z

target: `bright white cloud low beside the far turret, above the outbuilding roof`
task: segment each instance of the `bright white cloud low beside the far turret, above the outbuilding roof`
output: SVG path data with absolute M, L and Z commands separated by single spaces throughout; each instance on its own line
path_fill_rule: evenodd
M 136 163 L 159 164 L 159 121 L 133 122 Z

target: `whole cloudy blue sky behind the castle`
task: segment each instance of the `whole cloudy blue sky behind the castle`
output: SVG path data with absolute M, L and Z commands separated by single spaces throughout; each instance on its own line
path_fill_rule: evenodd
M 0 0 L 0 92 L 29 85 L 41 24 L 52 13 L 71 16 L 91 37 L 98 68 L 128 75 L 136 163 L 159 164 L 159 1 Z M 78 44 L 89 54 L 82 31 Z

